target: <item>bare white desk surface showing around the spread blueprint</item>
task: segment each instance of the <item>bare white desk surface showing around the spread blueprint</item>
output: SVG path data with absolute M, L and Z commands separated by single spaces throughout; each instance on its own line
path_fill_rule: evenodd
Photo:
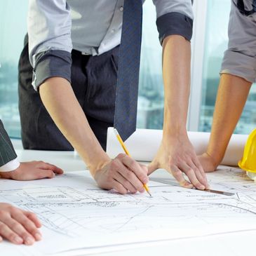
M 20 161 L 42 160 L 53 163 L 65 172 L 84 170 L 85 164 L 75 152 L 17 150 Z M 213 176 L 214 173 L 210 173 Z M 151 177 L 168 177 L 164 171 L 157 171 Z M 236 223 L 234 223 L 235 225 Z M 243 231 L 230 234 L 217 234 L 197 238 L 184 238 L 168 242 L 138 244 L 133 248 L 109 248 L 103 256 L 130 255 L 256 255 L 254 252 L 256 231 Z M 1 248 L 1 245 L 0 245 Z M 93 252 L 92 252 L 93 253 Z M 63 256 L 65 254 L 62 254 Z M 67 254 L 68 255 L 68 254 Z M 83 252 L 77 255 L 85 255 Z M 5 256 L 8 256 L 6 254 Z

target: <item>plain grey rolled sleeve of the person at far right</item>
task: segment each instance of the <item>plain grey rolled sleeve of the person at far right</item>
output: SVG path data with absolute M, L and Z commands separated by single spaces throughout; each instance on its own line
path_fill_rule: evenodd
M 256 79 L 255 18 L 245 16 L 231 2 L 229 45 L 224 53 L 220 74 L 232 74 L 253 83 Z

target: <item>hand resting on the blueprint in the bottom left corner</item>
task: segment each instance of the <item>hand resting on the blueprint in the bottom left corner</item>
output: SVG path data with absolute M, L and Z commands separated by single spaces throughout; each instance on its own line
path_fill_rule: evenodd
M 41 223 L 34 213 L 0 203 L 0 241 L 6 238 L 11 243 L 32 245 L 41 240 Z

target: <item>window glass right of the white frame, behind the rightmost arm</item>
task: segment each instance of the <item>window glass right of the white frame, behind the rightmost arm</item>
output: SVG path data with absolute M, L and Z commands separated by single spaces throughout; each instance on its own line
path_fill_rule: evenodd
M 198 130 L 210 132 L 223 53 L 227 50 L 230 0 L 208 1 L 203 91 Z M 221 8 L 220 8 L 221 6 Z M 197 14 L 198 15 L 198 14 Z M 256 88 L 252 86 L 234 133 L 248 134 L 256 126 Z

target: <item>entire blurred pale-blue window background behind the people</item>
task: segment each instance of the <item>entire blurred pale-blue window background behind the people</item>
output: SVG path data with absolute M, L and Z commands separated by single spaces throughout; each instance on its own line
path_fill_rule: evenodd
M 220 65 L 227 49 L 230 0 L 194 1 L 194 36 L 191 42 L 191 97 L 188 130 L 209 132 Z M 0 0 L 0 118 L 8 134 L 20 137 L 18 113 L 18 59 L 26 34 L 28 0 Z M 15 6 L 15 8 L 13 8 Z M 163 80 L 156 10 L 144 4 L 142 59 L 137 128 L 162 129 Z M 248 134 L 256 126 L 256 88 L 252 86 L 235 133 Z

